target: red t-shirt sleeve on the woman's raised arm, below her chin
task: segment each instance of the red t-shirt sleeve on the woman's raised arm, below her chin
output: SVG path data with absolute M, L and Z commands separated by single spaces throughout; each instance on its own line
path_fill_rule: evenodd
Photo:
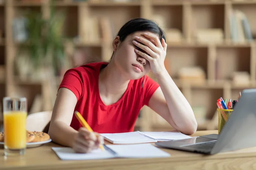
M 154 94 L 154 92 L 157 90 L 159 87 L 159 84 L 155 82 L 153 79 L 145 75 L 144 79 L 144 105 L 148 106 L 148 102 L 151 99 L 151 96 Z

